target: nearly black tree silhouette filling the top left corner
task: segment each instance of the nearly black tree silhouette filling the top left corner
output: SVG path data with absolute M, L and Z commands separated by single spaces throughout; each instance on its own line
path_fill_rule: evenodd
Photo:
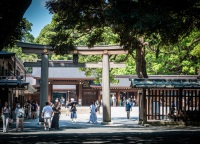
M 0 1 L 0 50 L 20 40 L 25 23 L 22 17 L 32 0 Z

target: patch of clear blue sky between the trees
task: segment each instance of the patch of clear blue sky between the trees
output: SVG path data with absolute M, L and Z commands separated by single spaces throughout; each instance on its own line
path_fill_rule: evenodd
M 51 23 L 52 14 L 49 14 L 48 9 L 45 7 L 47 0 L 32 0 L 31 5 L 26 10 L 24 18 L 33 24 L 32 31 L 30 32 L 35 38 L 39 36 L 40 31 L 47 24 Z

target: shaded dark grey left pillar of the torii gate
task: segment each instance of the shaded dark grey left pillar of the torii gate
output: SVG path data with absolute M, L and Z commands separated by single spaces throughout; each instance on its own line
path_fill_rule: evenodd
M 40 81 L 40 114 L 39 122 L 44 122 L 44 119 L 41 118 L 42 109 L 45 106 L 45 102 L 48 101 L 48 55 L 46 53 L 42 54 L 41 62 L 41 81 Z

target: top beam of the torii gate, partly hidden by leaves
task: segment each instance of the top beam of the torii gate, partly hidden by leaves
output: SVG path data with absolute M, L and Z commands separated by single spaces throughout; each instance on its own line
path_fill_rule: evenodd
M 18 47 L 22 47 L 23 53 L 53 53 L 53 48 L 50 45 L 41 45 L 41 44 L 32 44 L 32 43 L 24 43 L 18 42 Z M 79 54 L 79 55 L 98 55 L 98 54 L 127 54 L 122 47 L 118 45 L 114 46 L 95 46 L 92 48 L 88 48 L 86 46 L 77 46 L 71 54 Z

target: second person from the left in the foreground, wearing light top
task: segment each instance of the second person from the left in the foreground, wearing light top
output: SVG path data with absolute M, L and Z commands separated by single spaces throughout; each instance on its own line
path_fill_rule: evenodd
M 22 132 L 23 128 L 24 128 L 25 110 L 22 107 L 22 105 L 20 105 L 20 103 L 18 103 L 17 106 L 16 106 L 15 114 L 16 114 L 16 132 L 18 132 L 19 124 L 20 124 L 21 132 Z

